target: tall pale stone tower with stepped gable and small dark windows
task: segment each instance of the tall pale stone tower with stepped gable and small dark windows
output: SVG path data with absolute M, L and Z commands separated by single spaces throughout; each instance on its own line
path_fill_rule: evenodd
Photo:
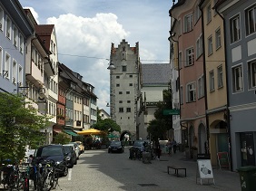
M 110 112 L 121 127 L 121 133 L 132 138 L 141 138 L 143 112 L 141 107 L 141 62 L 139 43 L 135 47 L 123 40 L 118 47 L 112 43 L 110 62 L 115 69 L 110 71 Z

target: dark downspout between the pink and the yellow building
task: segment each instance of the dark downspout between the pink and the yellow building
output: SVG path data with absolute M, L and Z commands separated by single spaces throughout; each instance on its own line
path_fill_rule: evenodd
M 207 145 L 206 145 L 206 154 L 210 155 L 211 158 L 211 153 L 210 153 L 210 129 L 209 129 L 209 116 L 207 114 L 207 110 L 208 110 L 208 99 L 207 99 L 207 85 L 206 85 L 206 62 L 205 62 L 205 41 L 204 41 L 204 23 L 203 23 L 203 11 L 202 11 L 202 3 L 204 2 L 204 0 L 199 4 L 199 8 L 201 11 L 201 19 L 202 19 L 202 50 L 203 50 L 203 54 L 202 54 L 202 59 L 203 59 L 203 74 L 204 74 L 204 78 L 203 78 L 203 86 L 204 86 L 204 107 L 205 107 L 205 122 L 206 122 L 206 132 L 207 132 Z

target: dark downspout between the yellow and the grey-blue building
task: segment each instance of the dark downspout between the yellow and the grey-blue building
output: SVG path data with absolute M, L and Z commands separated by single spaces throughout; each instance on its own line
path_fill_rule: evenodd
M 214 8 L 214 7 L 213 7 Z M 218 6 L 215 7 L 215 11 L 218 15 L 221 16 L 222 21 L 223 21 L 223 34 L 226 33 L 226 22 L 224 17 L 222 16 L 222 14 L 219 13 L 219 11 L 217 10 Z M 227 129 L 228 129 L 228 133 L 229 133 L 229 151 L 230 151 L 230 161 L 231 161 L 231 171 L 233 171 L 233 165 L 232 165 L 232 153 L 231 153 L 231 119 L 230 119 L 230 110 L 229 110 L 229 106 L 230 106 L 230 100 L 229 100 L 229 87 L 228 87 L 228 63 L 227 63 L 227 48 L 226 48 L 226 38 L 225 35 L 223 35 L 224 37 L 224 58 L 225 58 L 225 70 L 226 70 L 226 91 L 227 91 L 227 114 L 226 114 L 226 120 L 227 120 Z

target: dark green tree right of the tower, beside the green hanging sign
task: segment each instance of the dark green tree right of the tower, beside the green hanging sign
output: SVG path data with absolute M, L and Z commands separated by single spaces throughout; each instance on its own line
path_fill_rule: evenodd
M 172 110 L 172 91 L 163 90 L 163 101 L 157 104 L 154 118 L 149 123 L 148 133 L 155 139 L 166 139 L 166 131 L 172 129 L 172 115 L 163 115 L 163 110 Z

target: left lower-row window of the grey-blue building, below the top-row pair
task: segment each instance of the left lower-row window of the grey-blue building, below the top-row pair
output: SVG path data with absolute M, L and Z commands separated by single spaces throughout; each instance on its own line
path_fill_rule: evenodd
M 242 70 L 241 65 L 232 68 L 232 88 L 233 92 L 242 91 Z

